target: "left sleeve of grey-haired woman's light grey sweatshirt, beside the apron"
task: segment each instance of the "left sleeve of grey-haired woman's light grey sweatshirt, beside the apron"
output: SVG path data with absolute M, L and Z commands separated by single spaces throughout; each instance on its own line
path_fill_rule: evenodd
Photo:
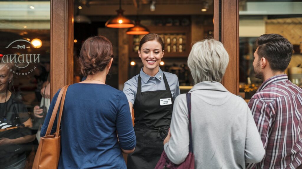
M 174 164 L 181 164 L 189 154 L 189 120 L 186 95 L 179 95 L 173 105 L 170 125 L 171 138 L 164 145 L 168 158 Z

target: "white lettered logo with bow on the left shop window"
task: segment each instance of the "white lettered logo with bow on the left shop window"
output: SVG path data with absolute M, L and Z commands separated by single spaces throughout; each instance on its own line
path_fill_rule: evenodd
M 29 43 L 29 45 L 14 45 L 15 42 L 27 42 Z M 33 46 L 33 49 L 36 49 L 34 44 L 32 44 L 30 41 L 24 40 L 24 39 L 18 39 L 15 40 L 13 42 L 11 42 L 8 46 L 6 46 L 5 48 L 12 48 L 12 49 L 28 49 L 31 48 L 31 46 Z M 2 57 L 2 63 L 14 63 L 14 65 L 20 69 L 24 69 L 26 67 L 28 67 L 28 65 L 30 63 L 40 63 L 40 54 L 21 54 L 19 52 L 15 53 L 15 54 L 5 54 Z M 30 74 L 31 72 L 33 72 L 37 67 L 34 66 L 31 70 L 26 71 L 25 73 L 19 73 L 19 72 L 15 72 L 13 71 L 10 67 L 6 66 L 8 69 L 10 69 L 10 71 L 13 74 L 16 75 L 27 75 Z

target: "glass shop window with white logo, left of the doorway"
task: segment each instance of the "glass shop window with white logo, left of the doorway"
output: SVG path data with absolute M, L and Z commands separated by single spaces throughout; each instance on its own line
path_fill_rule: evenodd
M 50 103 L 50 1 L 1 1 L 0 37 L 0 168 L 31 168 Z

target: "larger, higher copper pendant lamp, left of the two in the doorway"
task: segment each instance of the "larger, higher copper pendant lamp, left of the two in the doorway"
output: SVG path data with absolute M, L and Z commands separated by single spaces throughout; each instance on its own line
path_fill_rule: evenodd
M 109 19 L 105 26 L 108 28 L 131 28 L 134 27 L 134 23 L 132 20 L 128 19 L 123 15 L 124 10 L 122 10 L 121 0 L 120 0 L 120 9 L 116 10 L 117 16 Z

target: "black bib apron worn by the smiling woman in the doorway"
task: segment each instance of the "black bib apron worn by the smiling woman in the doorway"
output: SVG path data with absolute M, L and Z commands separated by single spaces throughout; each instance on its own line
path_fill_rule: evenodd
M 173 96 L 163 73 L 165 90 L 141 92 L 142 80 L 138 76 L 134 101 L 134 131 L 136 147 L 128 155 L 128 169 L 154 169 L 164 150 L 163 140 L 171 123 Z M 160 105 L 160 99 L 171 98 L 171 105 Z

